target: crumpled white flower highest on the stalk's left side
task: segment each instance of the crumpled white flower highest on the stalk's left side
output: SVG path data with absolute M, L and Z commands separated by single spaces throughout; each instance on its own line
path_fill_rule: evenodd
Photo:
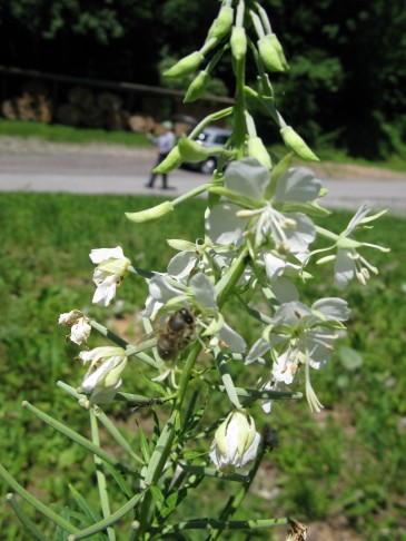
M 116 296 L 117 287 L 127 276 L 131 262 L 125 257 L 120 246 L 92 249 L 89 257 L 92 263 L 98 264 L 93 273 L 97 289 L 92 302 L 100 306 L 108 306 Z

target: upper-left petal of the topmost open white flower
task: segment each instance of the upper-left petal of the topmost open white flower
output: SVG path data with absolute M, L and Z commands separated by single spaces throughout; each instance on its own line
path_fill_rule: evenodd
M 254 199 L 263 199 L 269 181 L 269 169 L 256 159 L 232 161 L 225 173 L 226 188 Z

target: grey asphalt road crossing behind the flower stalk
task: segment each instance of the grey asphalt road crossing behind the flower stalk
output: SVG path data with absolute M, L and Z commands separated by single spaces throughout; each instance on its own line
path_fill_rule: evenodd
M 7 151 L 0 149 L 0 191 L 67 191 L 75 194 L 168 194 L 176 197 L 208 181 L 199 173 L 177 169 L 169 174 L 172 190 L 162 191 L 161 180 L 151 190 L 145 187 L 155 155 L 132 150 L 115 151 L 103 147 L 52 147 L 52 151 Z M 386 173 L 386 178 L 331 178 L 319 175 L 329 193 L 324 198 L 330 208 L 356 209 L 363 203 L 374 208 L 406 212 L 406 173 Z

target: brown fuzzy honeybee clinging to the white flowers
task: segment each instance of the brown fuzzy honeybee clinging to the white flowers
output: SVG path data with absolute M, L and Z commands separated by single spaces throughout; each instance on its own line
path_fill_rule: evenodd
M 186 347 L 195 333 L 195 317 L 187 308 L 180 308 L 165 322 L 158 337 L 158 354 L 164 361 L 178 356 L 179 350 Z

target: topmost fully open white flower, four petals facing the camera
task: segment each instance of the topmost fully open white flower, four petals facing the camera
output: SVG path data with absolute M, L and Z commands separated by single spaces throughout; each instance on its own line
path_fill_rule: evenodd
M 321 188 L 309 169 L 289 169 L 271 186 L 266 167 L 244 159 L 227 168 L 225 187 L 231 201 L 215 206 L 206 220 L 215 244 L 238 246 L 250 232 L 256 247 L 271 238 L 280 254 L 290 253 L 300 262 L 305 259 L 316 234 L 303 209 L 311 207 Z

